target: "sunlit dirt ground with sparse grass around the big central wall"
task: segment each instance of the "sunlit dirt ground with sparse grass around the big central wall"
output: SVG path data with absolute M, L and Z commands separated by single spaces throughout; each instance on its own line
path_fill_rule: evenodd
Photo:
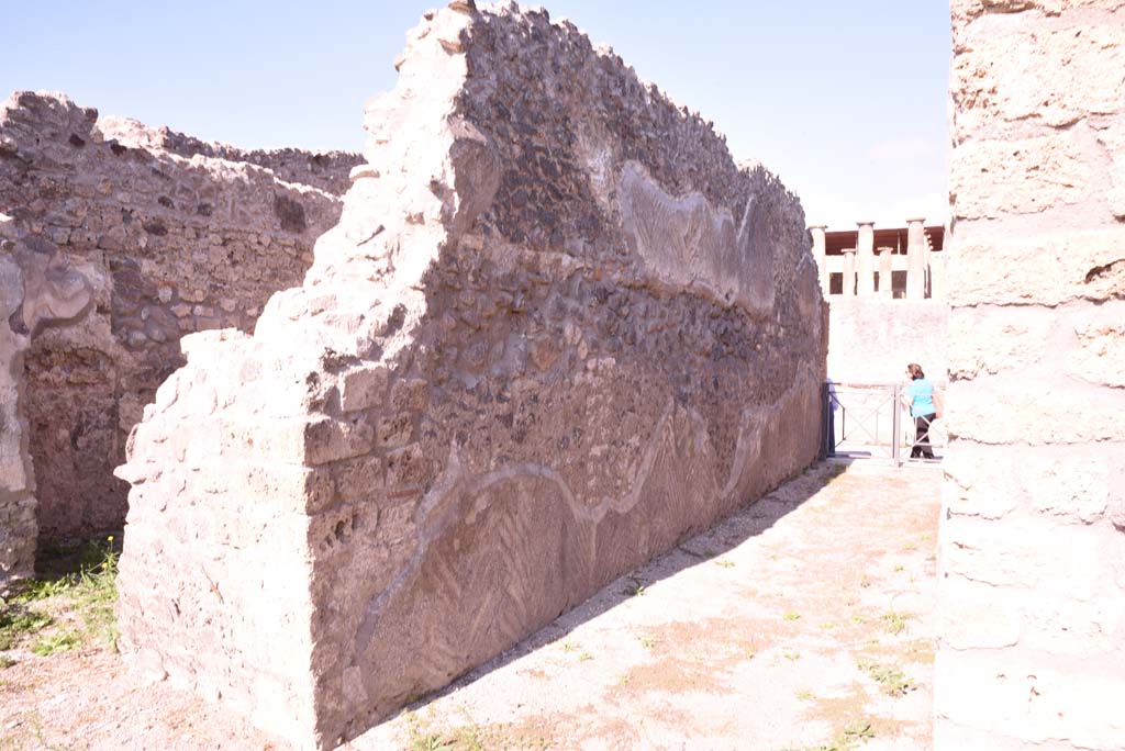
M 345 748 L 929 748 L 939 488 L 820 464 Z M 3 751 L 287 748 L 107 646 L 2 655 Z

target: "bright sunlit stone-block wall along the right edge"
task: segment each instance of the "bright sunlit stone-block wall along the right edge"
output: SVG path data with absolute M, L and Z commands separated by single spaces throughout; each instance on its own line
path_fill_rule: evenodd
M 1125 2 L 953 2 L 935 748 L 1125 739 Z

